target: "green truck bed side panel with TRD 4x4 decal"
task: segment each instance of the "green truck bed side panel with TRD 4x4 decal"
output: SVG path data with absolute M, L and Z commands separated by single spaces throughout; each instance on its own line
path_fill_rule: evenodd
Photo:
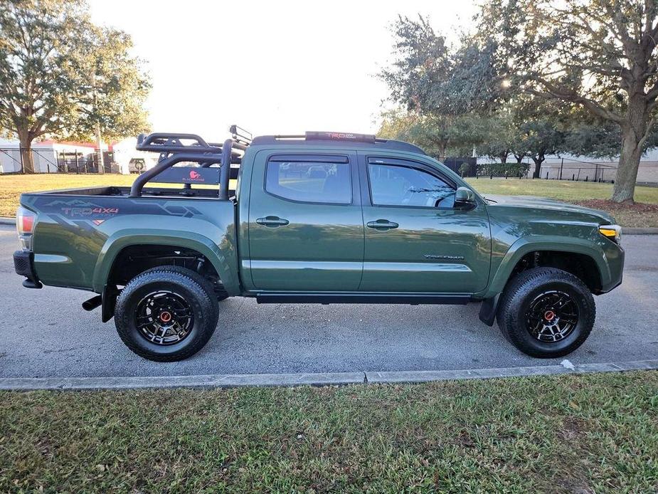
M 204 255 L 213 258 L 218 246 L 227 246 L 225 257 L 235 259 L 235 204 L 220 199 L 216 186 L 129 193 L 129 187 L 100 186 L 22 194 L 21 205 L 38 215 L 33 243 L 38 278 L 46 285 L 101 293 L 102 273 L 122 248 L 159 244 L 162 238 L 206 248 Z

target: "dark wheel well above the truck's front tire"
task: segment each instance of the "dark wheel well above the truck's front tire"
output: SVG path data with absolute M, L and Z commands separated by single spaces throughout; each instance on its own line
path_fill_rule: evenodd
M 586 254 L 563 251 L 534 251 L 524 255 L 509 279 L 531 268 L 557 268 L 580 278 L 592 293 L 600 293 L 601 276 L 596 262 Z M 508 281 L 509 283 L 509 281 Z

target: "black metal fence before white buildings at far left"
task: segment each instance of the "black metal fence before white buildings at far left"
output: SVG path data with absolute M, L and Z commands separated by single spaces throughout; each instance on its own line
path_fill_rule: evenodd
M 100 150 L 73 149 L 56 151 L 55 149 L 30 149 L 33 170 L 25 166 L 26 149 L 11 147 L 0 148 L 0 174 L 25 173 L 98 173 Z M 103 171 L 120 173 L 112 151 L 102 152 Z

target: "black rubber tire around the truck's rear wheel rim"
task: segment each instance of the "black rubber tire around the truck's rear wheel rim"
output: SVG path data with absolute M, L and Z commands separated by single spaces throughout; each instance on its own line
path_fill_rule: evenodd
M 140 334 L 136 311 L 139 301 L 154 290 L 168 290 L 184 298 L 193 314 L 189 334 L 172 345 L 157 345 Z M 191 357 L 210 340 L 219 315 L 217 297 L 210 281 L 179 266 L 159 266 L 141 273 L 125 286 L 117 299 L 115 325 L 124 344 L 145 359 L 176 362 Z

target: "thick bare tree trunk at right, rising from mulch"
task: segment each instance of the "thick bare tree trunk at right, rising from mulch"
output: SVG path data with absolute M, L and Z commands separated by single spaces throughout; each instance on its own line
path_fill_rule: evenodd
M 622 152 L 617 167 L 615 187 L 610 200 L 613 202 L 634 202 L 637 169 L 640 167 L 644 134 L 648 125 L 647 102 L 644 95 L 630 98 L 626 110 L 626 122 L 622 125 Z

